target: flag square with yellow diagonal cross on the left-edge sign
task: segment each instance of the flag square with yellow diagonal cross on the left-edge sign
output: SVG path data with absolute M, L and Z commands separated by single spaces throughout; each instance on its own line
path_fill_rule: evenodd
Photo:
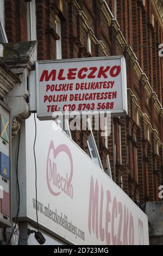
M 1 115 L 1 138 L 4 141 L 10 141 L 10 129 L 9 129 L 9 119 Z

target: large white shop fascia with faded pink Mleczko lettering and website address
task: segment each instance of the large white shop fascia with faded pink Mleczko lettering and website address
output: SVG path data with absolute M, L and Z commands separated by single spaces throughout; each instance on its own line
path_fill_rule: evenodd
M 42 229 L 74 245 L 148 245 L 148 218 L 52 121 L 37 120 Z M 34 120 L 26 121 L 27 217 L 36 221 Z

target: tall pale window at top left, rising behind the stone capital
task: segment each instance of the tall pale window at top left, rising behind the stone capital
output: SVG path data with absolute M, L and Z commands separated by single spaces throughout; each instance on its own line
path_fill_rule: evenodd
M 27 2 L 27 40 L 36 41 L 36 5 L 35 0 Z M 37 50 L 34 52 L 34 59 L 37 59 Z

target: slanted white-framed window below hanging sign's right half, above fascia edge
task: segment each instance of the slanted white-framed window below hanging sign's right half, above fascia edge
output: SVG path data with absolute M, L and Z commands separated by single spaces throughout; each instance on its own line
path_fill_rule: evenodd
M 97 150 L 97 145 L 95 142 L 95 138 L 93 136 L 93 132 L 91 130 L 90 124 L 89 125 L 89 129 L 91 131 L 90 135 L 87 137 L 87 147 L 88 147 L 88 155 L 91 157 L 91 159 L 93 160 L 93 162 L 95 162 L 97 164 L 97 166 L 99 166 L 101 169 L 103 169 L 102 166 L 102 162 Z

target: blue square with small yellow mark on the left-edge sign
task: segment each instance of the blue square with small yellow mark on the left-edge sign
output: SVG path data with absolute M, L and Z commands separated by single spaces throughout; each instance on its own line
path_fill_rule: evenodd
M 10 159 L 7 155 L 1 154 L 1 175 L 4 178 L 9 179 L 10 178 Z

